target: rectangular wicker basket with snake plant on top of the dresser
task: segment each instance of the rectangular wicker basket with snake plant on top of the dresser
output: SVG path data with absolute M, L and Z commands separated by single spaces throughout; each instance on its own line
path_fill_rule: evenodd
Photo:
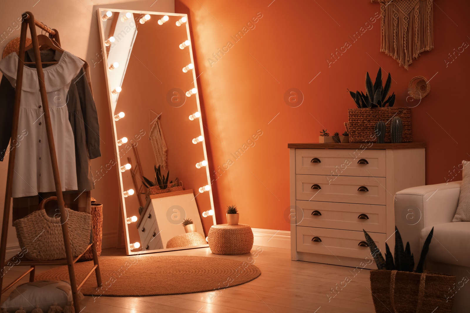
M 375 141 L 375 125 L 383 121 L 385 130 L 385 142 L 390 142 L 390 123 L 394 116 L 403 121 L 402 142 L 412 141 L 411 137 L 411 109 L 408 107 L 393 107 L 395 93 L 388 96 L 392 76 L 388 74 L 385 85 L 382 85 L 382 69 L 379 68 L 376 81 L 372 84 L 369 73 L 366 74 L 366 94 L 363 92 L 349 92 L 356 103 L 357 108 L 348 109 L 349 142 Z M 388 97 L 387 97 L 388 96 Z

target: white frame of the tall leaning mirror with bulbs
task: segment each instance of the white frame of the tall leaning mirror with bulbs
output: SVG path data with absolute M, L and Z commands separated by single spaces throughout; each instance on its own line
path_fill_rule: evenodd
M 171 15 L 171 16 L 180 16 L 180 17 L 185 16 L 187 19 L 188 19 L 188 15 L 187 14 L 176 14 L 176 13 L 164 13 L 164 12 L 151 12 L 151 11 L 122 10 L 122 9 L 115 9 L 115 8 L 98 8 L 97 9 L 98 27 L 99 27 L 99 31 L 100 31 L 100 40 L 101 40 L 102 57 L 103 57 L 102 61 L 103 61 L 104 72 L 105 72 L 104 77 L 105 77 L 105 81 L 106 81 L 106 86 L 108 87 L 108 105 L 109 105 L 109 108 L 110 108 L 110 121 L 111 121 L 111 124 L 112 124 L 112 136 L 114 137 L 114 150 L 115 150 L 116 155 L 119 155 L 118 137 L 116 135 L 117 134 L 116 133 L 116 121 L 114 120 L 114 112 L 113 112 L 112 98 L 111 98 L 112 97 L 112 93 L 111 93 L 112 89 L 111 89 L 111 86 L 109 84 L 110 71 L 107 70 L 108 66 L 109 66 L 108 56 L 107 56 L 107 53 L 106 53 L 106 46 L 105 46 L 104 40 L 103 40 L 103 38 L 105 38 L 105 36 L 104 36 L 104 27 L 103 27 L 103 21 L 100 18 L 102 11 L 111 11 L 111 12 L 118 12 L 118 13 L 131 12 L 131 13 L 136 13 L 136 14 L 150 14 L 150 15 Z M 187 22 L 185 24 L 186 24 L 186 32 L 188 34 L 188 39 L 191 40 L 190 35 L 189 35 L 189 20 L 187 20 Z M 192 47 L 192 45 L 191 45 L 191 47 Z M 191 58 L 191 63 L 194 64 L 192 48 L 189 49 L 189 56 Z M 193 70 L 192 72 L 193 72 L 194 84 L 195 84 L 195 87 L 197 88 L 196 71 Z M 200 89 L 197 88 L 197 90 L 198 90 L 198 92 L 195 95 L 196 96 L 197 111 L 201 112 L 201 105 L 199 103 L 199 90 Z M 204 125 L 203 125 L 202 118 L 199 118 L 199 127 L 201 129 L 201 134 L 203 134 L 203 136 L 206 137 L 205 134 L 204 134 Z M 201 144 L 202 144 L 203 151 L 204 151 L 204 160 L 208 160 L 207 159 L 207 150 L 206 150 L 205 142 L 206 141 L 204 140 L 203 142 L 201 142 Z M 125 222 L 125 220 L 128 216 L 126 214 L 126 209 L 125 209 L 125 197 L 124 197 L 124 191 L 125 190 L 123 188 L 122 172 L 120 171 L 120 168 L 121 168 L 121 160 L 118 158 L 117 164 L 116 164 L 116 171 L 117 171 L 118 177 L 119 177 L 119 191 L 120 191 L 120 202 L 121 202 L 121 216 L 120 216 L 121 218 L 120 218 L 120 221 L 118 221 L 118 222 L 121 222 L 124 229 L 125 229 L 124 238 L 125 238 L 125 249 L 126 249 L 127 255 L 142 254 L 142 253 L 154 253 L 154 252 L 164 252 L 164 251 L 173 251 L 173 250 L 182 250 L 182 249 L 193 249 L 193 248 L 200 248 L 200 247 L 207 247 L 208 246 L 208 244 L 204 244 L 204 245 L 188 246 L 188 247 L 172 248 L 172 249 L 160 249 L 160 250 L 149 250 L 149 251 L 131 251 L 130 244 L 132 244 L 132 243 L 129 242 L 128 224 Z M 209 164 L 205 168 L 206 168 L 207 184 L 211 185 L 211 176 L 210 176 Z M 211 201 L 211 209 L 214 210 L 214 199 L 212 197 L 212 188 L 208 192 L 209 192 L 209 197 L 210 197 L 210 201 Z M 202 220 L 203 217 L 201 215 L 201 212 L 199 214 L 200 214 L 201 220 Z M 213 222 L 213 225 L 217 224 L 216 219 L 215 219 L 215 213 L 212 215 L 212 222 Z M 121 236 L 119 229 L 120 228 L 118 227 L 118 238 L 120 238 L 120 236 Z M 137 249 L 135 249 L 135 250 L 137 250 Z

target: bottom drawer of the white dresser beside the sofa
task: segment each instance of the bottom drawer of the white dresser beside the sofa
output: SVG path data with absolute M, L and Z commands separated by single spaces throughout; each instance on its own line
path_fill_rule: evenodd
M 385 234 L 368 233 L 382 254 L 385 252 Z M 312 241 L 313 238 L 321 241 Z M 297 227 L 297 251 L 341 257 L 371 259 L 368 246 L 360 246 L 366 241 L 362 231 Z

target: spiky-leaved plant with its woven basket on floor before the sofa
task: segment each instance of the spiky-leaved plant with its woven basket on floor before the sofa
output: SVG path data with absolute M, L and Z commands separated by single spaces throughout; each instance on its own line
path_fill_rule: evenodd
M 385 243 L 385 259 L 369 234 L 363 231 L 378 268 L 370 271 L 370 288 L 374 295 L 372 298 L 376 313 L 433 312 L 437 307 L 439 312 L 451 312 L 453 297 L 444 295 L 454 286 L 455 276 L 423 271 L 434 227 L 424 241 L 415 270 L 409 242 L 403 248 L 403 241 L 396 227 L 394 257 Z

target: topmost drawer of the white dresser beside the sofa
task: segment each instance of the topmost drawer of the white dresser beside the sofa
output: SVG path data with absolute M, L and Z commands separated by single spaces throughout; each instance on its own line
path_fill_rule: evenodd
M 296 149 L 296 174 L 385 177 L 385 150 Z

